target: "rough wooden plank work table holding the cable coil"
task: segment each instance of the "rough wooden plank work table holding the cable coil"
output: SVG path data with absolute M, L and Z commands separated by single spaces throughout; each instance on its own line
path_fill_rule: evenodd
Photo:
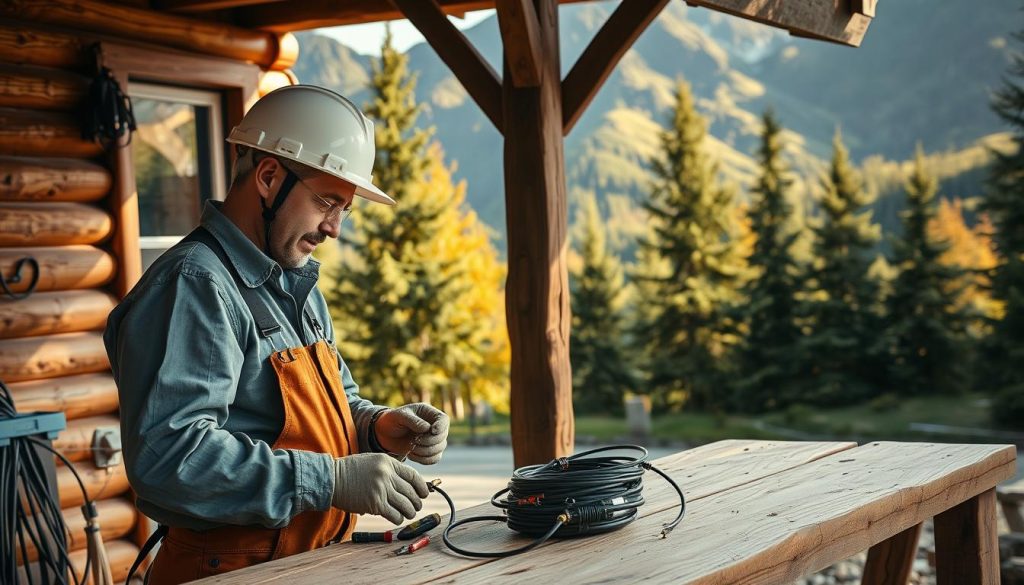
M 436 528 L 411 555 L 346 542 L 200 583 L 788 583 L 869 549 L 863 583 L 895 584 L 906 583 L 931 517 L 940 585 L 998 583 L 994 488 L 1016 463 L 1004 445 L 722 441 L 654 461 L 686 495 L 686 517 L 667 539 L 678 495 L 648 472 L 636 521 L 518 556 L 457 556 Z M 483 504 L 457 515 L 496 513 Z M 501 523 L 453 538 L 473 550 L 529 541 Z

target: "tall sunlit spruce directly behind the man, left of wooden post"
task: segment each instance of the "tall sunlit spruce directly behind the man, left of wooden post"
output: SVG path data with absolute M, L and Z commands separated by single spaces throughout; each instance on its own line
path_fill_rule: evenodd
M 417 189 L 430 164 L 430 131 L 416 127 L 420 108 L 407 61 L 388 31 L 366 108 L 375 119 L 374 176 L 397 206 L 358 205 L 351 236 L 343 235 L 355 253 L 327 294 L 342 354 L 362 391 L 381 402 L 429 402 L 449 383 L 444 302 L 457 286 L 452 261 L 430 253 L 450 202 Z

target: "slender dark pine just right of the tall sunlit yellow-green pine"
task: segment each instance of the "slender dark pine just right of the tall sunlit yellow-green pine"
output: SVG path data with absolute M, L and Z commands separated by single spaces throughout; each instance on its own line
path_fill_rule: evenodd
M 745 411 L 796 402 L 799 370 L 796 293 L 801 288 L 801 267 L 792 250 L 799 234 L 792 227 L 793 209 L 786 200 L 793 180 L 782 161 L 781 128 L 771 111 L 763 122 L 761 176 L 749 212 L 757 239 L 748 263 L 756 274 L 743 288 L 746 335 L 737 352 L 740 378 L 734 399 L 735 406 Z

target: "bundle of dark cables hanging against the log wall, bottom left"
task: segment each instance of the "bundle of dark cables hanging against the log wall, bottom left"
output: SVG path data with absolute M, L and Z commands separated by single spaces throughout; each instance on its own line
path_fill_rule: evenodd
M 10 389 L 0 380 L 0 419 L 17 415 Z M 17 554 L 20 552 L 25 577 L 30 585 L 69 585 L 68 575 L 71 559 L 68 555 L 68 527 L 63 520 L 58 501 L 51 496 L 45 467 L 36 447 L 49 451 L 71 470 L 82 490 L 85 505 L 82 513 L 86 518 L 88 554 L 82 579 L 71 572 L 72 582 L 83 585 L 89 581 L 92 570 L 94 585 L 114 582 L 106 551 L 96 521 L 96 505 L 89 499 L 82 477 L 67 457 L 54 450 L 45 441 L 34 436 L 10 440 L 10 444 L 0 447 L 0 583 L 18 583 Z M 36 549 L 38 581 L 30 570 L 28 544 Z M 99 563 L 102 563 L 101 566 Z

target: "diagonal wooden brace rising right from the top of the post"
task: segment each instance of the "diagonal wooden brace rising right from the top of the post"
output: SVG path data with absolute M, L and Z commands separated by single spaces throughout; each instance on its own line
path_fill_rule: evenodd
M 572 130 L 618 60 L 669 0 L 623 0 L 562 83 L 562 135 Z

